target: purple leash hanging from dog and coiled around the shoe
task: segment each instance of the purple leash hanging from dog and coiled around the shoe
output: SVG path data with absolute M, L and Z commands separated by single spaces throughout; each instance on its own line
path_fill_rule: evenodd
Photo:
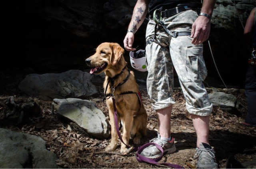
M 121 134 L 120 134 L 120 131 L 119 131 L 119 128 L 118 128 L 118 119 L 117 119 L 117 112 L 116 112 L 116 102 L 115 102 L 115 98 L 114 98 L 114 92 L 113 92 L 113 95 L 112 95 L 112 102 L 113 102 L 113 107 L 114 107 L 114 118 L 115 118 L 115 125 L 116 125 L 116 131 L 117 131 L 117 134 L 118 134 L 118 137 L 119 139 L 122 141 L 122 143 L 124 143 L 122 137 L 121 137 Z M 126 143 L 124 143 L 124 145 L 126 145 Z M 140 155 L 140 153 L 148 146 L 150 145 L 155 145 L 161 152 L 162 152 L 162 155 L 158 158 L 155 158 L 155 159 L 150 159 L 148 157 L 144 157 L 142 155 Z M 126 145 L 126 147 L 130 147 L 129 145 Z M 140 147 L 134 147 L 132 149 L 133 151 L 137 151 L 136 153 L 136 159 L 137 161 L 139 161 L 140 163 L 142 162 L 146 162 L 146 163 L 149 163 L 149 164 L 154 164 L 154 165 L 166 165 L 168 167 L 172 167 L 172 168 L 176 168 L 176 169 L 183 169 L 182 166 L 180 165 L 176 165 L 176 164 L 171 164 L 171 163 L 158 163 L 157 161 L 159 161 L 160 159 L 162 159 L 163 155 L 164 155 L 164 150 L 162 149 L 162 147 L 156 143 L 146 143 Z

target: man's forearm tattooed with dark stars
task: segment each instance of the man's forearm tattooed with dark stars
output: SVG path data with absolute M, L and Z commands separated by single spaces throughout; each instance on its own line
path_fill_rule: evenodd
M 132 30 L 133 34 L 140 28 L 142 25 L 146 14 L 148 12 L 148 0 L 138 0 L 134 6 L 132 13 L 132 20 L 128 26 L 128 30 Z

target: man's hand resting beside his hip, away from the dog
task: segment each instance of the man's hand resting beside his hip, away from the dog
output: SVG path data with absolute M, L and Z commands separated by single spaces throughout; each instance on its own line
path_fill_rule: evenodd
M 191 38 L 192 44 L 198 45 L 203 43 L 209 38 L 211 29 L 210 19 L 205 16 L 198 16 L 195 22 L 192 24 Z

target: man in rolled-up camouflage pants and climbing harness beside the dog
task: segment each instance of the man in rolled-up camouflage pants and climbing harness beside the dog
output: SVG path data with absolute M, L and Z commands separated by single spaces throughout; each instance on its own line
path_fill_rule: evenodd
M 194 155 L 195 158 L 198 158 L 196 167 L 218 168 L 214 149 L 208 140 L 212 103 L 209 102 L 208 94 L 202 83 L 207 76 L 202 55 L 202 42 L 209 37 L 210 17 L 216 0 L 204 0 L 199 16 L 192 10 L 192 5 L 184 5 L 184 8 L 185 6 L 191 8 L 179 11 L 178 3 L 192 4 L 193 2 L 198 3 L 200 0 L 138 0 L 124 38 L 124 48 L 128 51 L 136 50 L 132 48 L 134 34 L 144 21 L 149 7 L 151 18 L 146 30 L 147 90 L 152 106 L 156 110 L 159 131 L 158 137 L 150 142 L 160 145 L 164 153 L 176 151 L 174 138 L 170 135 L 170 117 L 172 105 L 175 103 L 172 97 L 173 68 L 175 68 L 186 99 L 186 109 L 191 114 L 196 130 L 197 147 Z M 158 15 L 160 19 L 157 19 L 161 20 L 163 24 L 159 24 L 156 20 L 158 23 L 156 26 L 152 15 L 154 15 L 154 11 L 156 13 L 157 10 L 161 10 L 160 7 L 163 8 L 162 12 L 168 10 L 172 13 L 176 11 L 176 13 L 168 14 L 168 17 L 162 19 Z M 180 36 L 171 36 L 163 25 L 168 30 L 180 32 Z M 191 36 L 188 36 L 190 34 L 188 32 L 191 32 Z M 151 159 L 158 158 L 161 154 L 155 145 L 150 145 L 141 152 L 142 156 Z

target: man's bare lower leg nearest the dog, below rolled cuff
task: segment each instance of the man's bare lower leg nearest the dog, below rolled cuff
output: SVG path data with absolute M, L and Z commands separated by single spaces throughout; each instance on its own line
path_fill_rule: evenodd
M 159 134 L 162 137 L 170 137 L 170 122 L 171 122 L 172 105 L 164 109 L 156 110 L 156 116 L 158 118 Z

